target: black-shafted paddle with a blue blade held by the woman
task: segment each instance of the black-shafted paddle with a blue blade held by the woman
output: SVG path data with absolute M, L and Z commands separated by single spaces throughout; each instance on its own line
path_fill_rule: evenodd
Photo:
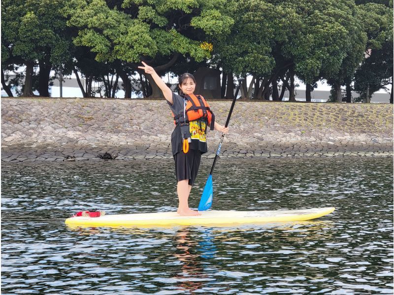
M 227 127 L 229 125 L 231 113 L 232 113 L 232 110 L 234 109 L 234 105 L 235 105 L 235 101 L 237 99 L 238 91 L 239 91 L 239 88 L 241 88 L 241 82 L 243 80 L 245 80 L 245 79 L 244 78 L 238 79 L 238 85 L 235 90 L 234 99 L 232 100 L 230 112 L 229 112 L 229 115 L 227 116 L 227 121 L 226 121 L 225 127 Z M 198 205 L 198 211 L 208 210 L 212 206 L 212 199 L 213 199 L 212 174 L 213 174 L 213 169 L 215 169 L 216 162 L 219 158 L 220 149 L 222 148 L 222 143 L 223 143 L 224 138 L 225 138 L 225 134 L 222 133 L 222 138 L 220 139 L 219 147 L 218 147 L 218 150 L 216 151 L 215 159 L 213 160 L 211 172 L 209 173 L 208 180 L 206 181 L 204 190 L 202 192 L 200 203 Z

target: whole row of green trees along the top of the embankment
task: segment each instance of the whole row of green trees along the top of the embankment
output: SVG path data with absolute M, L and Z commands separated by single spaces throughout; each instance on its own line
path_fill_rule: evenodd
M 44 96 L 49 95 L 50 70 L 56 69 L 73 72 L 78 82 L 79 74 L 90 85 L 93 80 L 103 82 L 106 96 L 113 96 L 110 90 L 115 87 L 110 75 L 122 78 L 125 97 L 131 97 L 131 91 L 161 96 L 151 77 L 137 68 L 144 60 L 161 75 L 200 66 L 217 68 L 224 75 L 223 89 L 233 87 L 234 75 L 252 75 L 248 94 L 246 85 L 243 92 L 258 99 L 272 94 L 280 100 L 277 85 L 282 82 L 282 96 L 285 87 L 294 100 L 295 77 L 310 89 L 326 79 L 340 102 L 342 86 L 354 82 L 357 91 L 364 93 L 368 87 L 371 94 L 392 83 L 392 4 L 392 0 L 4 0 L 2 86 L 6 90 L 9 86 L 4 71 L 11 65 L 26 65 L 25 95 L 32 94 L 32 73 L 38 68 L 39 93 Z M 135 75 L 138 81 L 133 80 Z M 93 95 L 79 84 L 84 96 Z

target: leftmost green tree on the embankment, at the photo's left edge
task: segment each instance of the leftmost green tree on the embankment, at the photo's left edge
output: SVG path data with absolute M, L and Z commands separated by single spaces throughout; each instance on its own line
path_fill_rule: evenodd
M 39 65 L 39 92 L 49 96 L 49 75 L 53 66 L 69 59 L 66 21 L 60 10 L 65 0 L 4 0 L 1 2 L 2 41 L 9 57 L 26 65 L 24 96 L 32 96 L 33 68 Z M 3 37 L 4 35 L 4 37 Z

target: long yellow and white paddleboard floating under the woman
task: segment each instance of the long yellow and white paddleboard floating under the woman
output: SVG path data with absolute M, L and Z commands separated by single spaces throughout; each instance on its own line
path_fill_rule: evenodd
M 176 212 L 104 215 L 96 218 L 71 217 L 66 224 L 82 226 L 130 227 L 168 225 L 231 225 L 278 221 L 306 221 L 325 216 L 334 207 L 275 211 L 202 211 L 200 216 L 180 216 Z

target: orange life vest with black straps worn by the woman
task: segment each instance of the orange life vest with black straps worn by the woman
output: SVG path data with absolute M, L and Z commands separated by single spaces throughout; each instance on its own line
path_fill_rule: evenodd
M 185 96 L 188 98 L 185 109 L 179 111 L 177 114 L 172 113 L 174 116 L 174 124 L 188 123 L 202 118 L 208 122 L 210 129 L 213 130 L 215 115 L 211 111 L 206 100 L 201 95 L 185 94 Z

